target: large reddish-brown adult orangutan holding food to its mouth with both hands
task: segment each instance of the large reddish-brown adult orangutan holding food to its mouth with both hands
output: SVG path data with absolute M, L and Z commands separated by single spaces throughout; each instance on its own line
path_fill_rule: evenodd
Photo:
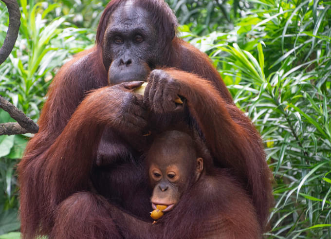
M 147 220 L 148 122 L 162 130 L 178 120 L 200 132 L 215 167 L 234 171 L 265 227 L 272 194 L 260 136 L 176 27 L 162 0 L 112 0 L 95 47 L 59 70 L 18 165 L 24 238 L 121 238 L 112 208 Z M 136 81 L 148 82 L 144 97 L 132 93 Z

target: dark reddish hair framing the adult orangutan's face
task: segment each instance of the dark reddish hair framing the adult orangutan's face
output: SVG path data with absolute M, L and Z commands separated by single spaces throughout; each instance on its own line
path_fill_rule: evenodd
M 126 1 L 128 0 L 111 0 L 106 6 L 106 9 L 100 18 L 96 33 L 95 43 L 98 48 L 102 48 L 103 37 L 110 15 Z M 146 9 L 150 14 L 150 20 L 156 26 L 158 31 L 158 42 L 161 44 L 161 47 L 167 48 L 170 46 L 172 38 L 175 36 L 178 23 L 177 18 L 168 4 L 164 0 L 132 0 L 132 2 L 134 5 Z M 165 52 L 168 52 L 167 50 L 170 49 L 165 49 Z

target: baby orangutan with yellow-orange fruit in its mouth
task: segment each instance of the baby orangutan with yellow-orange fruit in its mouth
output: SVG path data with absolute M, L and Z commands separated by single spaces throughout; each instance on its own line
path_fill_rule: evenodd
M 154 212 L 162 215 L 152 224 L 113 208 L 112 216 L 121 221 L 119 230 L 124 238 L 261 238 L 247 192 L 230 171 L 215 169 L 202 140 L 193 138 L 172 130 L 154 139 L 146 154 L 150 201 L 165 215 Z

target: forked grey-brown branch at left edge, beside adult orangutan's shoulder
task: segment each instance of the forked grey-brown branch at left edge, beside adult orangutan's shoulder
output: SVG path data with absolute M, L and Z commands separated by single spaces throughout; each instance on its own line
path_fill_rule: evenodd
M 0 108 L 7 111 L 9 115 L 18 122 L 0 124 L 0 135 L 38 132 L 38 125 L 28 116 L 26 116 L 21 110 L 18 110 L 13 104 L 6 101 L 1 95 Z

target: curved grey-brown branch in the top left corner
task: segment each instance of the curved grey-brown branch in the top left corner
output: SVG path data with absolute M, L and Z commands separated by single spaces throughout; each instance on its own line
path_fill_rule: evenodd
M 9 26 L 6 38 L 4 39 L 3 45 L 0 49 L 0 65 L 2 62 L 4 62 L 8 55 L 13 50 L 13 47 L 15 45 L 17 36 L 18 36 L 18 30 L 20 25 L 20 11 L 19 6 L 16 0 L 2 0 L 9 12 Z

